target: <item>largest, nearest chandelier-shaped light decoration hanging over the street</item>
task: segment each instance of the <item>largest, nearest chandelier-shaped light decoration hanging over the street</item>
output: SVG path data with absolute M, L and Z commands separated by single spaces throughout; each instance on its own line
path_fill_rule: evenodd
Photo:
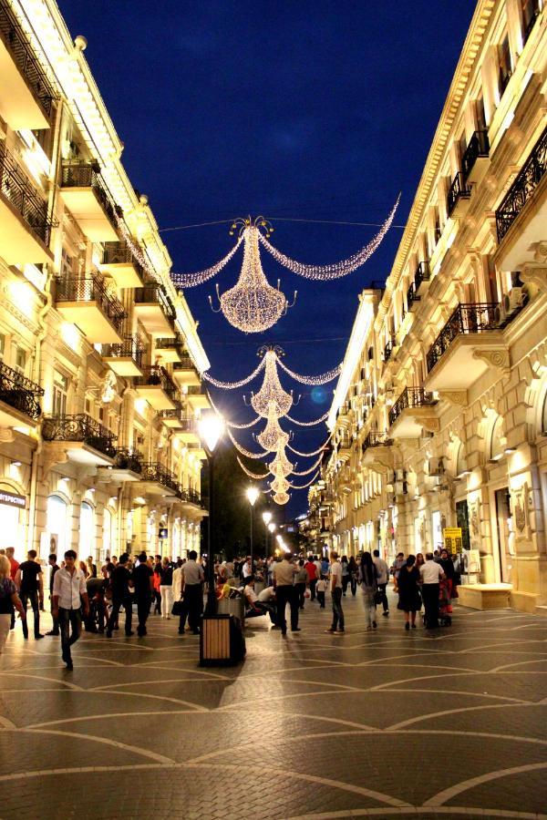
M 242 270 L 238 281 L 230 290 L 220 293 L 217 284 L 216 292 L 220 307 L 215 313 L 222 311 L 224 318 L 243 333 L 263 333 L 278 322 L 290 307 L 293 307 L 296 301 L 296 291 L 294 291 L 293 303 L 289 304 L 280 290 L 280 282 L 277 282 L 277 287 L 273 288 L 263 272 L 258 239 L 262 236 L 261 229 L 265 231 L 266 237 L 270 236 L 273 231 L 270 223 L 263 217 L 257 217 L 255 220 L 251 217 L 245 220 L 235 220 L 231 233 L 238 225 L 240 226 L 239 241 L 243 239 L 244 244 Z M 209 301 L 212 306 L 211 296 Z

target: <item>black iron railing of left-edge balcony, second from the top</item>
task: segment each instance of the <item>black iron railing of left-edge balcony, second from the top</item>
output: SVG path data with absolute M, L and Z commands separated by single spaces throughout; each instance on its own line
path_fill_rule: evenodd
M 0 190 L 5 199 L 9 200 L 21 214 L 28 227 L 48 245 L 51 229 L 57 228 L 58 221 L 48 214 L 46 200 L 40 196 L 25 171 L 5 149 L 4 143 L 0 143 Z

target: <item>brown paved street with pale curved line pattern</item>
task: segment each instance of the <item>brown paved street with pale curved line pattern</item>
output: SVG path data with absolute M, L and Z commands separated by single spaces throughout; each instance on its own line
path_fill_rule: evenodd
M 394 608 L 371 632 L 344 605 L 340 637 L 310 601 L 286 639 L 248 621 L 230 669 L 150 617 L 144 640 L 84 635 L 67 672 L 17 623 L 0 817 L 547 818 L 547 620 L 455 608 L 405 632 Z

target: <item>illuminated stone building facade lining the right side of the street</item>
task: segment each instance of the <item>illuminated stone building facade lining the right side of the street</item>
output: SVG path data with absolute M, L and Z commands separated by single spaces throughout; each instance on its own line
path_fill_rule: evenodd
M 317 538 L 347 554 L 461 528 L 463 602 L 527 611 L 547 604 L 546 102 L 544 0 L 480 0 L 310 493 Z

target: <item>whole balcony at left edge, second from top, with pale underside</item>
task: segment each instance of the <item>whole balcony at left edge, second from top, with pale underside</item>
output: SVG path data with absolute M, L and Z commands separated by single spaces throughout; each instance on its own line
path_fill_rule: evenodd
M 48 245 L 57 224 L 36 185 L 0 142 L 0 256 L 8 265 L 53 261 Z

